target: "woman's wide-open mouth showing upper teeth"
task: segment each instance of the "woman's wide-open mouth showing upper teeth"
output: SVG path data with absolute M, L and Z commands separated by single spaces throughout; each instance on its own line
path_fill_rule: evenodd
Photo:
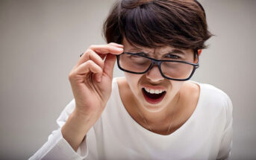
M 143 88 L 143 95 L 147 102 L 156 104 L 160 103 L 163 100 L 163 97 L 166 95 L 166 91 L 161 90 L 150 90 Z

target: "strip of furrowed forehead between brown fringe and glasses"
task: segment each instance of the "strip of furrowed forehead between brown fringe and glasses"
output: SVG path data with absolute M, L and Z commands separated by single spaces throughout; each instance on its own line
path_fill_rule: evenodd
M 123 45 L 124 45 L 124 51 L 127 52 L 144 52 L 146 54 L 166 54 L 166 53 L 176 53 L 176 54 L 190 54 L 193 53 L 192 49 L 178 49 L 171 47 L 169 45 L 160 47 L 160 48 L 146 48 L 146 47 L 141 47 L 137 45 L 131 45 L 127 39 L 123 39 Z

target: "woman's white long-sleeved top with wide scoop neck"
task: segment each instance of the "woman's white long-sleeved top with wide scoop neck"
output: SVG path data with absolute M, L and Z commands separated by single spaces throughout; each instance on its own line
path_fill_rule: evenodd
M 59 129 L 30 159 L 227 159 L 232 146 L 231 100 L 214 86 L 197 84 L 200 95 L 193 115 L 172 134 L 160 135 L 131 118 L 114 78 L 107 106 L 77 152 L 60 131 L 75 109 L 73 99 L 57 118 Z

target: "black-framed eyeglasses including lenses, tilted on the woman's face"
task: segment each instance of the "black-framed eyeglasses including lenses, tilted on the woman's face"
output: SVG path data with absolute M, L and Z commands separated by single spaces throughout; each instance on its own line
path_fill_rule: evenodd
M 116 55 L 117 65 L 122 71 L 132 74 L 145 74 L 154 65 L 157 65 L 160 74 L 169 80 L 189 80 L 199 63 L 190 63 L 181 60 L 156 60 L 140 53 L 123 52 Z

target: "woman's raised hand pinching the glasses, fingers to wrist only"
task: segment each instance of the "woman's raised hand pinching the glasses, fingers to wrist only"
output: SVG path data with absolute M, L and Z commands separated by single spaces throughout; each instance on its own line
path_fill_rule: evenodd
M 123 46 L 116 43 L 91 45 L 69 73 L 75 97 L 75 112 L 98 119 L 110 97 L 113 66 Z

